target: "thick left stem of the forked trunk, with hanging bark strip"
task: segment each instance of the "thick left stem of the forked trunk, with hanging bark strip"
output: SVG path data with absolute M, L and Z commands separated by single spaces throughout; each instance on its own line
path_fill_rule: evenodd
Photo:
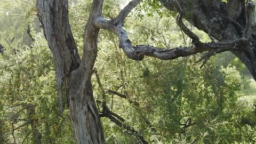
M 36 7 L 56 65 L 59 110 L 62 114 L 62 84 L 65 77 L 80 65 L 80 57 L 69 25 L 68 1 L 37 0 Z M 28 32 L 30 33 L 30 30 Z

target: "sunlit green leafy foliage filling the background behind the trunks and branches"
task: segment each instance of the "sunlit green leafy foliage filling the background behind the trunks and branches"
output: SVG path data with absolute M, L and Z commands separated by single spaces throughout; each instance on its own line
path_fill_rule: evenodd
M 111 19 L 124 3 L 107 0 L 104 16 Z M 132 42 L 166 49 L 169 43 L 189 45 L 174 13 L 155 1 L 150 4 L 142 3 L 124 23 Z M 58 111 L 54 62 L 34 5 L 26 0 L 0 3 L 0 143 L 74 143 L 66 99 L 64 115 Z M 69 6 L 82 51 L 91 1 L 71 1 Z M 210 41 L 191 29 L 201 41 Z M 119 49 L 116 36 L 100 33 L 94 97 L 100 112 L 106 102 L 124 120 L 118 126 L 101 119 L 106 143 L 140 143 L 140 135 L 149 143 L 256 142 L 256 84 L 231 53 L 217 55 L 202 69 L 195 63 L 200 54 L 133 61 Z

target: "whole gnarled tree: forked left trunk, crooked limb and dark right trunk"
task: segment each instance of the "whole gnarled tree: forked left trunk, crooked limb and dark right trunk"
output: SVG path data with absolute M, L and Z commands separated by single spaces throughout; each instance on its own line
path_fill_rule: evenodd
M 170 60 L 206 52 L 199 60 L 204 60 L 204 65 L 212 55 L 231 51 L 256 79 L 253 2 L 249 1 L 245 5 L 242 0 L 227 3 L 220 0 L 159 0 L 168 10 L 178 11 L 177 25 L 183 33 L 193 39 L 193 45 L 174 49 L 132 45 L 123 29 L 123 22 L 140 2 L 142 0 L 131 1 L 117 17 L 107 20 L 102 17 L 103 0 L 94 0 L 84 31 L 83 55 L 80 59 L 69 25 L 68 1 L 37 0 L 38 17 L 56 65 L 59 109 L 63 111 L 62 86 L 65 83 L 76 143 L 104 143 L 100 115 L 94 102 L 91 83 L 100 29 L 107 29 L 117 35 L 119 47 L 127 57 L 133 60 L 142 60 L 145 55 Z M 149 3 L 158 2 L 150 1 Z M 200 42 L 199 38 L 183 23 L 183 16 L 192 25 L 213 37 L 213 42 Z M 219 42 L 214 42 L 214 38 Z

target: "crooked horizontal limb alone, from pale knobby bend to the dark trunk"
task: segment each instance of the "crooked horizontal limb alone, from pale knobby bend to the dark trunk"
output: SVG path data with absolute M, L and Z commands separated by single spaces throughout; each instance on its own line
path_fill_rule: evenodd
M 137 45 L 132 46 L 126 31 L 122 25 L 114 25 L 111 21 L 98 17 L 94 21 L 96 27 L 107 29 L 115 33 L 119 38 L 119 47 L 121 47 L 127 57 L 133 60 L 142 60 L 145 55 L 148 57 L 155 57 L 162 60 L 171 60 L 179 57 L 187 57 L 191 54 L 196 54 L 204 51 L 218 50 L 219 52 L 233 50 L 235 47 L 240 48 L 246 45 L 247 38 L 239 38 L 234 41 L 218 42 L 218 43 L 196 43 L 188 47 L 177 47 L 166 50 L 154 46 Z

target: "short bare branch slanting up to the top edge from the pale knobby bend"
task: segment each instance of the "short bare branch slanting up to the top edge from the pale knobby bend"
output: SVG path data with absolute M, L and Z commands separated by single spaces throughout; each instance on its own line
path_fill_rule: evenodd
M 129 4 L 127 4 L 123 10 L 117 15 L 117 17 L 113 20 L 113 24 L 123 23 L 124 19 L 127 15 L 136 7 L 142 0 L 132 0 Z

